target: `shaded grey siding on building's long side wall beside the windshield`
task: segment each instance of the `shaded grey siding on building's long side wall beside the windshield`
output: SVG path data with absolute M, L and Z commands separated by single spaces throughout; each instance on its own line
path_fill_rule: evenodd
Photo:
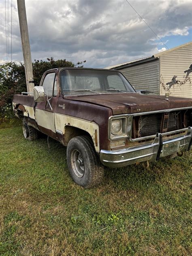
M 159 59 L 119 69 L 136 90 L 159 94 Z

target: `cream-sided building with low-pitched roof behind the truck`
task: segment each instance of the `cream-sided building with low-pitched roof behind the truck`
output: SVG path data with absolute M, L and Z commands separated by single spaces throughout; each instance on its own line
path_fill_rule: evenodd
M 121 71 L 136 90 L 192 98 L 192 42 L 106 69 Z

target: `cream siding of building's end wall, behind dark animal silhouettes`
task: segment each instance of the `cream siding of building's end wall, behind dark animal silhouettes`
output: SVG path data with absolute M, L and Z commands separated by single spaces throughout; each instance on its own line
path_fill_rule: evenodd
M 164 95 L 169 89 L 173 76 L 177 84 L 169 89 L 171 96 L 192 98 L 192 72 L 187 75 L 184 71 L 192 65 L 192 43 L 173 52 L 160 56 L 160 94 Z M 192 68 L 191 68 L 192 69 Z M 164 89 L 165 87 L 165 89 Z

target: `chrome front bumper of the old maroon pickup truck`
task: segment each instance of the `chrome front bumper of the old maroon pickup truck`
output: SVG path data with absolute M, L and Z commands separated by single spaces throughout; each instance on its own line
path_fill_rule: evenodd
M 192 127 L 186 129 L 185 135 L 163 140 L 163 137 L 177 133 L 157 133 L 152 143 L 141 146 L 124 148 L 117 151 L 100 151 L 100 161 L 109 167 L 122 167 L 137 162 L 157 161 L 161 157 L 171 155 L 176 152 L 189 151 L 192 144 Z

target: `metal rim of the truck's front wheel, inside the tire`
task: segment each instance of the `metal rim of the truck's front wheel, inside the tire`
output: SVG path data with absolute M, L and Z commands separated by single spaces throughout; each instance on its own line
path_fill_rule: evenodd
M 78 178 L 82 178 L 85 172 L 85 165 L 83 157 L 77 149 L 74 149 L 71 153 L 71 166 L 75 175 Z

